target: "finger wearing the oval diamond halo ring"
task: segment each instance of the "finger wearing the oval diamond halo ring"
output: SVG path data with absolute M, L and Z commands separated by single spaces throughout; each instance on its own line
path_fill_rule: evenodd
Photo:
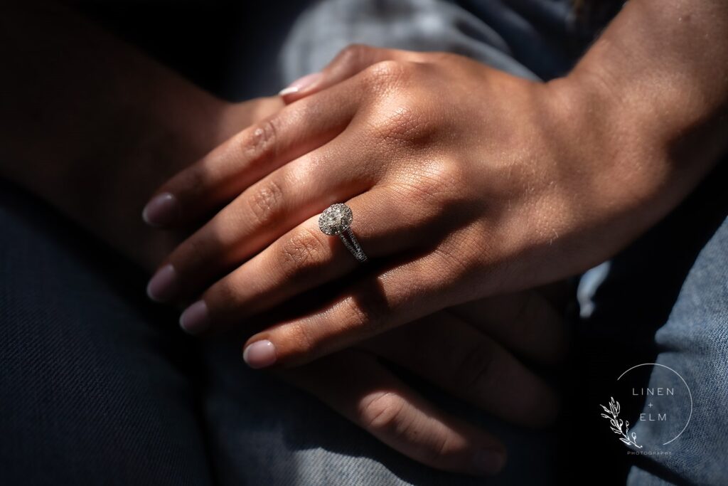
M 388 256 L 415 246 L 432 226 L 424 208 L 400 208 L 391 187 L 378 186 L 347 202 L 352 230 L 368 256 Z M 399 209 L 397 209 L 399 208 Z M 381 217 L 387 215 L 387 217 Z M 408 221 L 403 232 L 402 221 Z M 357 261 L 339 238 L 325 235 L 318 217 L 307 219 L 202 294 L 181 315 L 180 324 L 198 333 L 240 322 L 285 299 L 349 273 Z

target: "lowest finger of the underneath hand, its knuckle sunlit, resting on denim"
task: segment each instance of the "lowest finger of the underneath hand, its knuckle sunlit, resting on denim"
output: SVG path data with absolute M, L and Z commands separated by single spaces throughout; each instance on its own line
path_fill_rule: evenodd
M 347 349 L 276 373 L 419 463 L 478 476 L 505 465 L 498 439 L 436 409 L 368 353 Z

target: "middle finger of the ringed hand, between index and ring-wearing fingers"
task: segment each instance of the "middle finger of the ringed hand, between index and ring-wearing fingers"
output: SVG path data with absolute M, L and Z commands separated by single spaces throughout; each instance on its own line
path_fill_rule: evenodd
M 371 168 L 341 167 L 346 146 L 337 138 L 242 192 L 167 257 L 149 281 L 149 297 L 166 302 L 199 294 L 299 222 L 369 189 L 376 182 Z

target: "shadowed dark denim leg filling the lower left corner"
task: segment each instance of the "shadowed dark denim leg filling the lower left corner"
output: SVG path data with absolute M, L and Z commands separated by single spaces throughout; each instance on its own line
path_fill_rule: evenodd
M 211 484 L 191 340 L 141 274 L 0 183 L 0 484 Z

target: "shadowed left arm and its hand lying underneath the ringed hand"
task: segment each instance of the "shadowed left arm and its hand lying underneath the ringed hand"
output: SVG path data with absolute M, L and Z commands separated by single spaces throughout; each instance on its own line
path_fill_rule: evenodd
M 3 4 L 0 36 L 0 176 L 147 270 L 209 218 L 201 203 L 174 231 L 148 227 L 139 215 L 154 187 L 284 106 L 277 97 L 221 101 L 57 4 Z M 415 460 L 492 474 L 503 445 L 386 363 L 506 420 L 544 426 L 558 397 L 522 363 L 558 366 L 566 333 L 557 309 L 536 291 L 483 299 L 274 374 Z

